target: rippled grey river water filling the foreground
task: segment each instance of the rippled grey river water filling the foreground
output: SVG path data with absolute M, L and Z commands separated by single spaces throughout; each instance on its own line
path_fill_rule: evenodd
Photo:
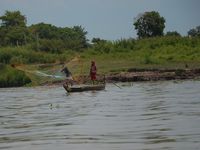
M 0 89 L 0 149 L 199 150 L 200 81 Z

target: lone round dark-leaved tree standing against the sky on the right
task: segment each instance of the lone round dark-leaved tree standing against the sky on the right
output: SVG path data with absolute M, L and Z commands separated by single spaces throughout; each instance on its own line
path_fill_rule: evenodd
M 162 36 L 165 19 L 158 12 L 145 12 L 138 15 L 133 25 L 139 38 Z

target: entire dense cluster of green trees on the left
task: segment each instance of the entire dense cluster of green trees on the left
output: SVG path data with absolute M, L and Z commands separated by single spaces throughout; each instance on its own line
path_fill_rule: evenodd
M 29 45 L 30 49 L 52 53 L 87 48 L 87 32 L 81 26 L 56 27 L 38 23 L 27 26 L 20 11 L 6 11 L 0 17 L 0 47 Z

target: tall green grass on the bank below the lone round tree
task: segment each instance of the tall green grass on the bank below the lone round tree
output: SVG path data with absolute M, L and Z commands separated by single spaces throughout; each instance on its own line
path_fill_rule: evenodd
M 200 38 L 155 37 L 102 42 L 81 54 L 86 72 L 95 60 L 100 72 L 126 71 L 128 68 L 198 68 Z

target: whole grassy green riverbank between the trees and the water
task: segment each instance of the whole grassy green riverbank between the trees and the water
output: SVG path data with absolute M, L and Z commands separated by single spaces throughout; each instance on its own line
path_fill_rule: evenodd
M 75 78 L 88 75 L 95 60 L 99 74 L 127 72 L 130 69 L 196 69 L 200 66 L 200 38 L 156 37 L 142 40 L 101 41 L 82 51 L 66 50 L 60 54 L 30 50 L 28 46 L 0 49 L 0 62 L 14 64 L 31 79 L 32 85 L 59 80 L 63 66 Z M 41 65 L 43 64 L 43 65 Z M 4 71 L 5 72 L 5 71 Z M 12 74 L 12 73 L 11 73 Z M 7 78 L 3 76 L 4 80 Z M 60 78 L 61 79 L 61 78 Z

